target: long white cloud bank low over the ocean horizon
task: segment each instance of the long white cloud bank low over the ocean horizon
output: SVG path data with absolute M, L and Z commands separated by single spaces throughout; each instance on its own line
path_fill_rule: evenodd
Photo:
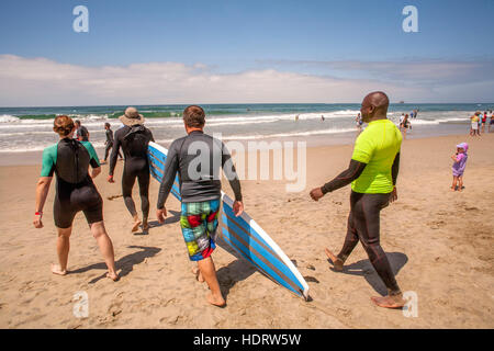
M 337 103 L 360 102 L 373 90 L 386 91 L 392 101 L 454 101 L 461 97 L 461 87 L 449 86 L 436 97 L 430 87 L 395 80 L 338 79 L 274 69 L 221 75 L 200 63 L 85 67 L 14 55 L 0 55 L 0 81 L 3 106 Z M 471 93 L 461 101 L 479 101 Z

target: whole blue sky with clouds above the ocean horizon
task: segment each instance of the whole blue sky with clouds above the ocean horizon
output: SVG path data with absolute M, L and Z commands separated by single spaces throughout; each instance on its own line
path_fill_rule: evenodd
M 77 33 L 77 5 L 89 32 Z M 406 5 L 418 32 L 406 33 Z M 0 106 L 493 102 L 492 0 L 2 0 Z

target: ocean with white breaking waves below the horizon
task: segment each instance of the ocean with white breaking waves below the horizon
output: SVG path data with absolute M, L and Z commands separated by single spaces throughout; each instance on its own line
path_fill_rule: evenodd
M 146 118 L 157 143 L 169 145 L 184 135 L 181 114 L 187 105 L 136 105 Z M 56 143 L 52 131 L 56 115 L 80 120 L 97 148 L 104 146 L 104 123 L 112 129 L 122 126 L 117 120 L 126 106 L 0 107 L 0 154 L 41 151 Z M 360 104 L 204 104 L 205 132 L 222 134 L 224 140 L 318 140 L 336 144 L 355 138 L 355 117 Z M 468 133 L 469 116 L 474 111 L 490 111 L 492 104 L 391 104 L 389 118 L 397 124 L 402 113 L 418 109 L 411 120 L 408 137 Z M 295 121 L 295 116 L 297 121 Z M 324 121 L 322 120 L 324 116 Z

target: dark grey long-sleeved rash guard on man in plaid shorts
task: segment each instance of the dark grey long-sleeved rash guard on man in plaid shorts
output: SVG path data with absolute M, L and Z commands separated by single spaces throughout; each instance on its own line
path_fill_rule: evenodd
M 220 168 L 229 181 L 235 200 L 242 201 L 240 181 L 232 156 L 222 141 L 201 131 L 175 140 L 168 150 L 157 207 L 165 205 L 177 172 L 183 203 L 220 199 Z

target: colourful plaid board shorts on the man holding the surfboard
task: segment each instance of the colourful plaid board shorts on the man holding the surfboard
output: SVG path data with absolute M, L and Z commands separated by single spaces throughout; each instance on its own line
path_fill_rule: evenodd
M 216 248 L 214 235 L 218 212 L 220 200 L 182 203 L 180 227 L 191 261 L 209 258 Z

